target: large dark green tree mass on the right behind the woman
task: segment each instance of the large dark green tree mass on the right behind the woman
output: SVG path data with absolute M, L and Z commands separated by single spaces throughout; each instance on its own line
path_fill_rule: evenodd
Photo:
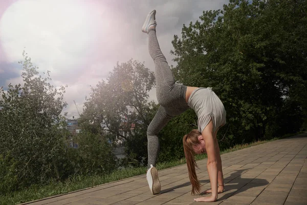
M 303 0 L 232 0 L 184 25 L 182 38 L 174 36 L 174 76 L 188 86 L 213 87 L 226 107 L 228 144 L 301 127 L 307 114 L 306 9 Z

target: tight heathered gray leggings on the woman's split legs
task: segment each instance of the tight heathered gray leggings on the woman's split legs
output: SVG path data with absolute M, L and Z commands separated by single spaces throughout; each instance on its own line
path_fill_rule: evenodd
M 147 129 L 148 166 L 156 166 L 160 147 L 158 133 L 172 117 L 181 114 L 189 107 L 185 100 L 187 87 L 175 84 L 166 58 L 160 50 L 156 30 L 150 30 L 148 33 L 148 49 L 156 67 L 157 99 L 160 104 Z

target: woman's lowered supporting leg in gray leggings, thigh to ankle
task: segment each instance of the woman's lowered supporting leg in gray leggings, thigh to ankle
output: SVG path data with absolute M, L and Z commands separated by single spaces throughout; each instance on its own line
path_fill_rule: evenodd
M 148 151 L 148 168 L 150 165 L 156 166 L 158 152 L 159 152 L 159 138 L 158 133 L 171 119 L 171 116 L 167 115 L 163 107 L 159 107 L 155 117 L 153 117 L 147 129 L 147 151 Z

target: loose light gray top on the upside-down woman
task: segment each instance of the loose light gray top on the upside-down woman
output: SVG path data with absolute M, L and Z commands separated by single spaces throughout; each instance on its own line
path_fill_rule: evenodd
M 188 100 L 188 106 L 198 116 L 198 130 L 203 132 L 211 118 L 213 122 L 213 133 L 226 124 L 226 110 L 220 98 L 211 88 L 195 89 Z

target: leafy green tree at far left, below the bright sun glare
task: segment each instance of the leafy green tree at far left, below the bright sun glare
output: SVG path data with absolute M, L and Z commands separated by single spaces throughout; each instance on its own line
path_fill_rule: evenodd
M 0 155 L 10 153 L 19 186 L 60 178 L 59 163 L 65 152 L 64 87 L 54 88 L 50 72 L 38 75 L 37 67 L 24 52 L 24 85 L 0 89 Z

